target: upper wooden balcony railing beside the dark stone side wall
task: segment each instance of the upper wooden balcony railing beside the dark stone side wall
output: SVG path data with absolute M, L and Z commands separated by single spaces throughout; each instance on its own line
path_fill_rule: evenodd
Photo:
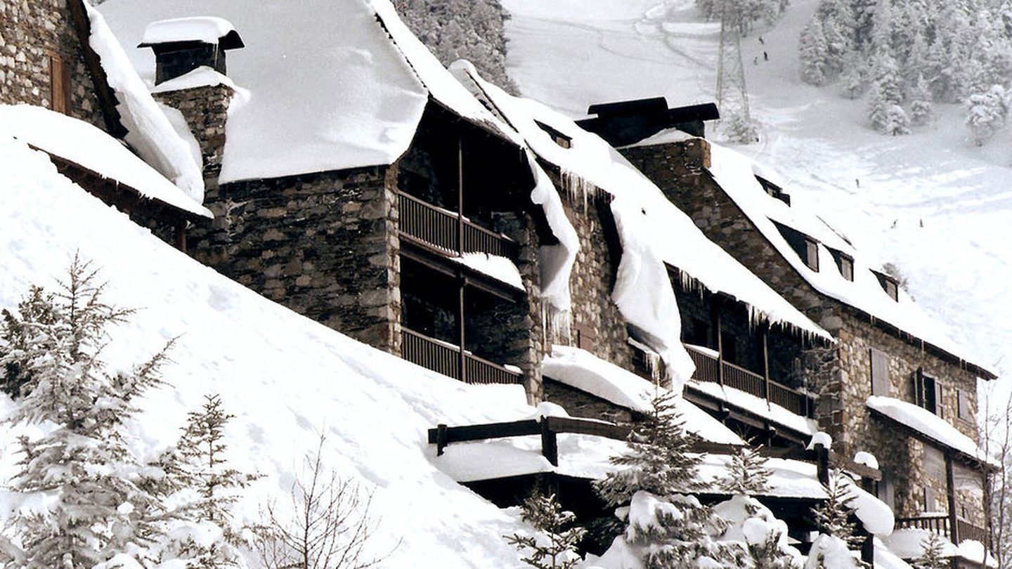
M 517 244 L 505 235 L 489 231 L 468 219 L 461 219 L 454 212 L 437 208 L 407 193 L 398 193 L 397 202 L 401 233 L 409 237 L 447 253 L 482 252 L 516 258 Z

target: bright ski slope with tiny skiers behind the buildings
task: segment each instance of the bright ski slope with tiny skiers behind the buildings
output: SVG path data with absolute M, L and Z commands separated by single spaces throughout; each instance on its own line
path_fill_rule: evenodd
M 570 116 L 626 98 L 713 100 L 719 24 L 692 0 L 503 4 L 512 15 L 507 67 L 521 92 Z M 862 100 L 798 78 L 797 40 L 817 4 L 793 0 L 773 28 L 743 39 L 761 142 L 738 150 L 777 170 L 792 198 L 818 209 L 866 262 L 897 265 L 911 295 L 981 363 L 1009 370 L 1009 133 L 973 146 L 956 105 L 938 105 L 935 121 L 907 137 L 871 131 Z

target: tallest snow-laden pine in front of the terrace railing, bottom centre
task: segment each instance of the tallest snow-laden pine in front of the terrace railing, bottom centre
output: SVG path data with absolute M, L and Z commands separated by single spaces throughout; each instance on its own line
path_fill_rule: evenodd
M 684 423 L 668 392 L 653 401 L 643 423 L 629 433 L 630 453 L 611 458 L 624 468 L 608 473 L 595 490 L 627 522 L 622 537 L 647 567 L 737 567 L 740 551 L 715 540 L 727 522 L 695 496 L 702 457 L 691 453 Z M 723 565 L 722 565 L 723 564 Z

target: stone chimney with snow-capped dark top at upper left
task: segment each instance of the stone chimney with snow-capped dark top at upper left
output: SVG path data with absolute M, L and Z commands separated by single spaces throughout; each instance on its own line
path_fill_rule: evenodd
M 225 124 L 236 92 L 227 76 L 225 54 L 245 44 L 228 20 L 190 17 L 150 23 L 138 47 L 155 53 L 152 94 L 182 113 L 200 146 L 209 201 L 217 193 Z

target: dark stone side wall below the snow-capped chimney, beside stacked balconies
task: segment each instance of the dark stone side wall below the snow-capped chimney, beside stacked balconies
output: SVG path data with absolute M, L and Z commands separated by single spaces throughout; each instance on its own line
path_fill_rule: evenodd
M 396 169 L 253 180 L 208 188 L 199 261 L 296 312 L 400 352 Z

